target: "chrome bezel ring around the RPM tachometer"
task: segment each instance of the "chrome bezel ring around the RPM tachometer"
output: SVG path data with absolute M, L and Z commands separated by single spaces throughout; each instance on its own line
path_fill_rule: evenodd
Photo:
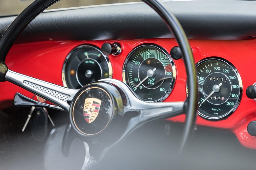
M 138 51 L 138 50 L 140 50 L 141 48 L 144 48 L 144 47 L 149 47 L 149 48 L 150 48 L 150 47 L 154 47 L 154 48 L 157 48 L 158 50 L 160 50 L 162 53 L 164 53 L 164 54 L 168 57 L 168 59 L 169 59 L 169 61 L 170 61 L 170 63 L 171 63 L 171 67 L 172 67 L 172 82 L 171 82 L 171 86 L 170 86 L 170 88 L 168 89 L 168 91 L 165 93 L 164 96 L 162 96 L 161 98 L 159 98 L 159 99 L 157 99 L 157 100 L 154 100 L 154 101 L 146 101 L 146 100 L 144 100 L 143 98 L 141 98 L 140 96 L 138 96 L 132 89 L 131 89 L 131 91 L 132 91 L 132 93 L 134 94 L 134 96 L 136 96 L 138 99 L 140 99 L 140 100 L 142 100 L 142 101 L 145 101 L 145 102 L 148 102 L 148 103 L 162 102 L 162 101 L 164 101 L 164 100 L 171 94 L 172 89 L 173 89 L 174 84 L 175 84 L 175 80 L 176 80 L 176 67 L 175 67 L 174 61 L 172 60 L 171 55 L 170 55 L 170 54 L 167 52 L 167 50 L 165 50 L 162 46 L 159 46 L 159 45 L 156 45 L 156 44 L 152 44 L 152 43 L 147 43 L 147 44 L 141 44 L 141 45 L 135 47 L 135 48 L 128 54 L 127 58 L 126 58 L 125 61 L 124 61 L 124 66 L 123 66 L 123 82 L 129 86 L 129 83 L 126 81 L 126 78 L 127 78 L 127 77 L 126 77 L 126 75 L 125 75 L 125 69 L 126 69 L 127 62 L 130 60 L 130 58 L 132 57 L 132 55 L 133 55 L 136 51 Z M 129 86 L 129 87 L 130 87 L 130 86 Z M 130 87 L 130 88 L 131 88 L 131 87 Z M 158 87 L 158 88 L 159 88 L 159 87 Z M 156 88 L 156 89 L 157 89 L 157 88 Z

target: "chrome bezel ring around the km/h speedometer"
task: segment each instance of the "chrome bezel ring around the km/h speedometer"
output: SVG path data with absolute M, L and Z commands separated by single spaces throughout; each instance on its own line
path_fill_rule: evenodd
M 239 96 L 237 97 L 237 101 L 236 101 L 235 105 L 233 106 L 233 108 L 230 111 L 228 111 L 227 113 L 225 113 L 224 115 L 221 115 L 219 117 L 210 117 L 210 116 L 207 116 L 207 115 L 199 112 L 199 110 L 197 110 L 197 114 L 200 117 L 203 117 L 204 119 L 207 119 L 207 120 L 217 121 L 217 120 L 222 120 L 222 119 L 225 119 L 225 118 L 229 117 L 232 113 L 234 113 L 236 111 L 237 107 L 239 106 L 239 104 L 241 102 L 241 98 L 242 98 L 242 94 L 243 94 L 243 83 L 242 83 L 241 76 L 240 76 L 239 72 L 237 71 L 236 67 L 231 62 L 229 62 L 228 60 L 225 60 L 225 59 L 220 58 L 220 57 L 209 57 L 209 58 L 200 60 L 196 64 L 196 68 L 198 66 L 200 66 L 201 64 L 203 64 L 204 62 L 208 62 L 208 61 L 220 61 L 220 62 L 223 62 L 223 63 L 227 64 L 234 71 L 234 73 L 236 74 L 236 77 L 238 79 L 238 82 L 239 82 Z M 226 103 L 226 102 L 224 102 L 224 103 Z

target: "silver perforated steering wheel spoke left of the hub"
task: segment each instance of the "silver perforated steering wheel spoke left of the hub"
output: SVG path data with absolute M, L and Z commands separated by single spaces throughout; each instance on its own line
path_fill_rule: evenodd
M 67 102 L 71 101 L 78 91 L 78 89 L 68 89 L 11 70 L 6 72 L 5 80 L 43 97 L 66 111 L 70 108 Z

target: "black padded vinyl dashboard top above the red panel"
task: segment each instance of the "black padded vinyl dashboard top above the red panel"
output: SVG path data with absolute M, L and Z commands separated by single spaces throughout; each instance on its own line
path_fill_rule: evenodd
M 188 39 L 250 39 L 256 35 L 256 1 L 165 2 Z M 0 35 L 15 17 L 0 18 Z M 17 43 L 43 40 L 173 38 L 146 4 L 120 4 L 44 12 Z

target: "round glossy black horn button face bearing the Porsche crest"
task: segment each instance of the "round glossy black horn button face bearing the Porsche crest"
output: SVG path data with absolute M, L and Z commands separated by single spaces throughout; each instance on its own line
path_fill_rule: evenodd
M 85 135 L 103 131 L 112 116 L 113 102 L 108 93 L 99 87 L 89 87 L 81 91 L 72 108 L 75 128 Z

